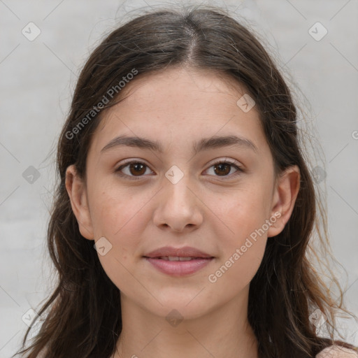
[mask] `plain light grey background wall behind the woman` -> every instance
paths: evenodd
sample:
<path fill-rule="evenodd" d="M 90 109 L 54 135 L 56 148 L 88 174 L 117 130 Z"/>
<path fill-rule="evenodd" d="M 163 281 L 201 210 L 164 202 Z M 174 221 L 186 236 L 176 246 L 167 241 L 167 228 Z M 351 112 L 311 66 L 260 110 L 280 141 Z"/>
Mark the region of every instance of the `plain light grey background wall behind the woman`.
<path fill-rule="evenodd" d="M 50 292 L 45 235 L 55 178 L 52 150 L 78 73 L 129 11 L 173 3 L 0 0 L 0 357 L 13 355 L 27 328 L 22 317 Z M 357 315 L 358 1 L 205 3 L 245 17 L 310 103 L 306 121 L 317 127 L 324 152 L 316 187 L 327 190 L 331 245 L 348 272 L 348 278 L 339 277 L 347 306 Z M 32 39 L 36 31 L 41 34 Z M 32 184 L 23 176 L 29 166 L 40 174 Z M 357 324 L 341 326 L 358 344 Z"/>

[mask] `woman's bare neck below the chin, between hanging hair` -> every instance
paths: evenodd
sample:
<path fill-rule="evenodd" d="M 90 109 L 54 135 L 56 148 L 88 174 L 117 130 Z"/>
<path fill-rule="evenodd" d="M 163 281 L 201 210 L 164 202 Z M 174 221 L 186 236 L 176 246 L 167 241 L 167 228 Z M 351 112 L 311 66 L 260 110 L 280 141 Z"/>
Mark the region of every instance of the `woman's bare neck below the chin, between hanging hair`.
<path fill-rule="evenodd" d="M 236 299 L 171 325 L 121 294 L 123 328 L 113 358 L 257 358 L 257 339 L 248 323 L 245 301 Z"/>

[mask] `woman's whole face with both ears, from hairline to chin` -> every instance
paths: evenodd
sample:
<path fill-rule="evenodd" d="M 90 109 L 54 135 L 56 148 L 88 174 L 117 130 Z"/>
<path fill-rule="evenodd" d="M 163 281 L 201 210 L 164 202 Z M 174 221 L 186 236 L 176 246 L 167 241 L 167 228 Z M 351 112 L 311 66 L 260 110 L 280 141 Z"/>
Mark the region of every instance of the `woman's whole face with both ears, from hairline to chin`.
<path fill-rule="evenodd" d="M 275 181 L 257 110 L 230 79 L 170 69 L 126 91 L 92 137 L 86 180 L 67 172 L 81 234 L 101 238 L 108 277 L 148 312 L 189 318 L 243 302 L 292 212 L 296 169 Z"/>

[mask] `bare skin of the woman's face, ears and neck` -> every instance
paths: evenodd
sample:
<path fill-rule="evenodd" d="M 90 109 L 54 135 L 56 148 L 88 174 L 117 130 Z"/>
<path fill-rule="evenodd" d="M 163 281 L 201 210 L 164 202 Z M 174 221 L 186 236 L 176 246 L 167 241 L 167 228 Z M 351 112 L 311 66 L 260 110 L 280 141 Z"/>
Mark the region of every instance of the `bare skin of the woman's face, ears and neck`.
<path fill-rule="evenodd" d="M 275 240 L 292 214 L 299 169 L 275 176 L 255 106 L 245 113 L 236 104 L 245 91 L 228 81 L 182 68 L 133 80 L 126 99 L 96 129 L 87 178 L 67 169 L 80 233 L 112 245 L 99 260 L 121 292 L 123 329 L 113 358 L 258 357 L 248 323 L 249 285 L 266 241 Z M 123 135 L 157 141 L 163 152 L 126 145 L 101 152 Z M 194 143 L 213 136 L 240 136 L 255 149 L 241 143 L 194 153 Z M 127 165 L 120 176 L 115 170 L 127 159 L 145 164 L 143 170 Z M 225 159 L 242 171 L 214 165 Z M 165 176 L 173 165 L 182 173 L 176 183 Z M 264 234 L 243 252 L 260 228 Z M 163 246 L 191 246 L 214 259 L 173 277 L 143 257 Z M 230 258 L 227 271 L 215 274 Z"/>

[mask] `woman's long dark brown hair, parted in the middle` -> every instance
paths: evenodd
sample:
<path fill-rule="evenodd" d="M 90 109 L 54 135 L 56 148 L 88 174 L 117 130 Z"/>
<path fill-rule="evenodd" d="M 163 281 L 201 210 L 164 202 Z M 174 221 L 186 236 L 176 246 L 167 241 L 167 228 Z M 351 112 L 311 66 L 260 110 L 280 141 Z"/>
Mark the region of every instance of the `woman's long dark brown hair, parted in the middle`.
<path fill-rule="evenodd" d="M 299 144 L 297 109 L 257 36 L 213 6 L 148 11 L 112 31 L 87 60 L 57 147 L 59 182 L 48 225 L 57 284 L 38 312 L 45 317 L 41 329 L 24 349 L 31 328 L 27 330 L 20 353 L 27 358 L 41 352 L 47 358 L 104 358 L 115 352 L 122 330 L 120 290 L 103 271 L 93 241 L 80 234 L 65 174 L 76 164 L 78 174 L 85 177 L 92 134 L 103 113 L 121 100 L 120 81 L 135 81 L 169 66 L 208 69 L 236 80 L 256 102 L 275 173 L 299 166 L 301 185 L 292 215 L 283 231 L 268 240 L 262 264 L 250 282 L 248 320 L 259 343 L 259 357 L 315 357 L 336 341 L 332 330 L 330 338 L 317 335 L 310 314 L 319 310 L 327 317 L 327 327 L 335 329 L 335 312 L 343 307 L 308 259 L 314 229 L 323 246 L 329 243 L 327 231 L 320 229 L 326 223 L 319 217 L 325 216 Z M 98 103 L 105 103 L 100 110 Z"/>

